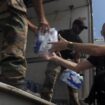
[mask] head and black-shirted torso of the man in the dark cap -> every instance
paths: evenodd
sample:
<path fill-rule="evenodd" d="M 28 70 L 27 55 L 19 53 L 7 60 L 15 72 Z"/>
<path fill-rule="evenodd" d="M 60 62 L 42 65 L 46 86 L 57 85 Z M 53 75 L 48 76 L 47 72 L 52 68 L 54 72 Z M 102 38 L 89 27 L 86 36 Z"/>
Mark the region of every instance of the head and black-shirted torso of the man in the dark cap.
<path fill-rule="evenodd" d="M 63 38 L 65 38 L 68 41 L 82 43 L 83 41 L 79 35 L 84 29 L 87 29 L 87 26 L 84 25 L 82 18 L 78 18 L 73 21 L 71 29 L 59 31 L 59 33 Z M 67 49 L 67 50 L 61 51 L 60 53 L 62 57 L 65 59 L 76 59 L 76 57 L 77 59 L 79 58 L 78 52 L 75 52 L 73 50 Z"/>

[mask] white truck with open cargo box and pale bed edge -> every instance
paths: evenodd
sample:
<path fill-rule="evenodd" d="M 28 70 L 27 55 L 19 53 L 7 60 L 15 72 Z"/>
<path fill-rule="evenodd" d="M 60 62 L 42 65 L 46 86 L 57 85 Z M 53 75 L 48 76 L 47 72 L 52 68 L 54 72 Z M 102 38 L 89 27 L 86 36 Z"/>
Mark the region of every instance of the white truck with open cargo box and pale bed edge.
<path fill-rule="evenodd" d="M 38 24 L 36 14 L 30 1 L 31 0 L 26 0 L 28 16 L 33 23 Z M 88 29 L 83 31 L 80 37 L 84 43 L 93 42 L 92 0 L 44 0 L 43 3 L 51 27 L 56 28 L 58 31 L 70 29 L 72 22 L 76 18 L 82 17 Z M 28 63 L 26 80 L 33 81 L 36 86 L 39 86 L 40 91 L 45 79 L 45 70 L 48 62 L 34 53 L 34 43 L 35 33 L 29 31 L 26 51 Z M 80 100 L 88 95 L 93 80 L 93 74 L 92 71 L 83 72 L 84 83 L 79 90 Z M 70 101 L 67 86 L 62 83 L 59 78 L 54 88 L 54 103 L 4 83 L 0 83 L 0 99 L 0 105 L 69 105 Z"/>

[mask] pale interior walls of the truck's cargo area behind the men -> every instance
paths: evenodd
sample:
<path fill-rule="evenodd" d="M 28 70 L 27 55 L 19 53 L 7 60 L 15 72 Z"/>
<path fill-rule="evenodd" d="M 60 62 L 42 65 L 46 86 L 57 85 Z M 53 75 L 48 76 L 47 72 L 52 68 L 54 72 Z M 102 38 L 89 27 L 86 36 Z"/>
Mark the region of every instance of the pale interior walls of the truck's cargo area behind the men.
<path fill-rule="evenodd" d="M 88 26 L 88 30 L 84 30 L 80 34 L 80 37 L 84 43 L 93 42 L 91 0 L 45 0 L 44 5 L 46 16 L 51 27 L 56 28 L 58 31 L 70 29 L 73 20 L 78 17 L 83 17 L 85 24 Z M 28 14 L 29 18 L 36 23 L 36 14 L 34 13 L 33 8 L 29 8 Z M 27 44 L 27 59 L 29 62 L 27 80 L 32 80 L 41 87 L 45 79 L 45 70 L 48 62 L 43 61 L 34 53 L 33 45 L 34 34 L 29 31 Z M 88 95 L 93 80 L 93 71 L 87 70 L 83 72 L 83 75 L 84 84 L 79 90 L 80 99 L 83 99 Z M 63 90 L 65 91 L 63 92 Z M 55 86 L 53 100 L 68 105 L 67 86 L 62 83 L 59 78 Z"/>

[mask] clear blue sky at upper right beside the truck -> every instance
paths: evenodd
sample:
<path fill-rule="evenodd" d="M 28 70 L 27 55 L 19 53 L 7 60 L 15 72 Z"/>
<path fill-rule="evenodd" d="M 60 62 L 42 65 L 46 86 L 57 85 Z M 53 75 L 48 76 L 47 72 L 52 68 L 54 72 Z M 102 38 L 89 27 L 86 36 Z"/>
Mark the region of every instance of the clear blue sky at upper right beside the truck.
<path fill-rule="evenodd" d="M 93 1 L 93 22 L 94 22 L 94 38 L 102 38 L 100 30 L 102 24 L 105 23 L 105 0 Z"/>

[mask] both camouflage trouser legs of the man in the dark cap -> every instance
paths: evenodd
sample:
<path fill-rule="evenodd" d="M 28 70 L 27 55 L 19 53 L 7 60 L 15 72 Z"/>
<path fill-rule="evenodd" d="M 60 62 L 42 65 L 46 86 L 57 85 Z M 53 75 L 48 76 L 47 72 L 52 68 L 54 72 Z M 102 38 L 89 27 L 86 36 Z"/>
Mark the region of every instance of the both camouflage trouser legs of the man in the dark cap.
<path fill-rule="evenodd" d="M 48 63 L 47 69 L 46 69 L 46 77 L 41 91 L 42 98 L 48 101 L 52 101 L 52 97 L 54 93 L 53 90 L 54 90 L 57 77 L 63 72 L 63 70 L 65 70 L 65 68 L 59 66 L 55 62 L 50 61 Z M 69 92 L 70 105 L 79 105 L 78 91 L 71 88 L 70 86 L 67 86 L 67 87 Z"/>

